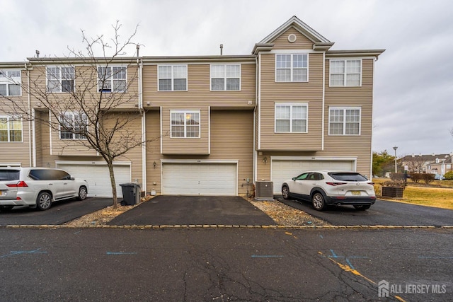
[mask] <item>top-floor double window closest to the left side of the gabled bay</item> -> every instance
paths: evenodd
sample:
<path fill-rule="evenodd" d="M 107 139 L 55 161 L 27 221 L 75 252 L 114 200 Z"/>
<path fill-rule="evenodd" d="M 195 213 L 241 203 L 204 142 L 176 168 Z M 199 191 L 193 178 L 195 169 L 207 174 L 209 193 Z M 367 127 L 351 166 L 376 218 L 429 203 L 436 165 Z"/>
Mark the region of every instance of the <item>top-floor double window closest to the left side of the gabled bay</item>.
<path fill-rule="evenodd" d="M 239 91 L 241 90 L 241 65 L 212 64 L 211 65 L 212 91 Z"/>

